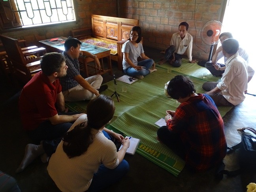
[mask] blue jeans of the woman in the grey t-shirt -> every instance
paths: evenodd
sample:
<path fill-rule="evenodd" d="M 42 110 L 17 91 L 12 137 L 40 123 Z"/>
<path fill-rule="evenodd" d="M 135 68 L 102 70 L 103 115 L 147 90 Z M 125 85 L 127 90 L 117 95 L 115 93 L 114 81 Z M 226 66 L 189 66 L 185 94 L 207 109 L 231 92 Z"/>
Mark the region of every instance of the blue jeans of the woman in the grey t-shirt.
<path fill-rule="evenodd" d="M 124 73 L 126 75 L 130 75 L 130 76 L 137 76 L 137 75 L 145 76 L 150 73 L 149 68 L 151 68 L 153 63 L 154 63 L 154 60 L 152 60 L 152 59 L 145 59 L 143 61 L 139 61 L 138 66 L 146 67 L 145 70 L 136 70 L 133 67 L 129 67 L 126 70 L 124 70 Z"/>

